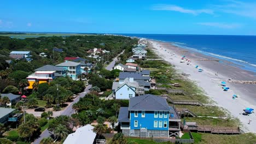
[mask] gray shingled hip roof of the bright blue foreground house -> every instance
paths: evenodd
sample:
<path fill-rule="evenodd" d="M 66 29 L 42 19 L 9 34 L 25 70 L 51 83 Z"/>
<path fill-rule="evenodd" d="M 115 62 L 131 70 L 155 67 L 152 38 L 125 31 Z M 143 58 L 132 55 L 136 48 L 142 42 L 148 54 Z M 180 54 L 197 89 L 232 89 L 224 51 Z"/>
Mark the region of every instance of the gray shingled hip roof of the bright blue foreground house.
<path fill-rule="evenodd" d="M 130 98 L 129 111 L 170 111 L 166 99 L 152 94 Z"/>

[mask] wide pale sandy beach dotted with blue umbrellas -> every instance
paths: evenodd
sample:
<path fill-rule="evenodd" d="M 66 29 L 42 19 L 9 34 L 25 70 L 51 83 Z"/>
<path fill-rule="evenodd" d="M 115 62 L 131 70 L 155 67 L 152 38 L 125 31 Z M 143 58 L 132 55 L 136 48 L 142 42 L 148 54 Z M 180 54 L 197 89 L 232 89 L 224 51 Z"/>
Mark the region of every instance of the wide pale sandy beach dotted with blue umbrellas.
<path fill-rule="evenodd" d="M 222 60 L 221 62 L 217 62 L 215 61 L 219 60 L 217 58 L 182 49 L 170 43 L 153 40 L 149 40 L 149 42 L 152 43 L 153 50 L 158 56 L 170 64 L 175 65 L 175 69 L 178 72 L 189 74 L 188 78 L 195 81 L 205 91 L 206 95 L 216 102 L 215 105 L 223 107 L 230 112 L 231 116 L 240 119 L 243 124 L 241 127 L 243 131 L 256 133 L 255 113 L 249 116 L 242 115 L 246 107 L 255 109 L 256 85 L 228 82 L 228 79 L 256 81 L 255 73 L 235 67 L 228 61 Z M 191 65 L 187 65 L 187 61 L 181 63 L 182 56 L 190 59 Z M 198 61 L 199 59 L 211 59 L 214 61 Z M 195 65 L 199 65 L 199 68 L 203 69 L 203 72 L 198 72 Z M 222 81 L 226 81 L 226 86 L 230 88 L 227 92 L 223 91 L 220 85 Z M 233 100 L 233 94 L 237 94 L 238 98 Z M 251 120 L 250 124 L 248 124 L 249 120 Z"/>

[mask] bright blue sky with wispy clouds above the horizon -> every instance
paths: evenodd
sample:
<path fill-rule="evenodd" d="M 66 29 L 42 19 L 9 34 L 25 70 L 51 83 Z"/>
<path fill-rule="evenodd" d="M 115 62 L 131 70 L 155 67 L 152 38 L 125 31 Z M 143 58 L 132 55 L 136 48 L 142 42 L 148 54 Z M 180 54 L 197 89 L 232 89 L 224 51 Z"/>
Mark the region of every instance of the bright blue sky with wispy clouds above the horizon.
<path fill-rule="evenodd" d="M 2 1 L 0 31 L 256 35 L 256 2 Z"/>

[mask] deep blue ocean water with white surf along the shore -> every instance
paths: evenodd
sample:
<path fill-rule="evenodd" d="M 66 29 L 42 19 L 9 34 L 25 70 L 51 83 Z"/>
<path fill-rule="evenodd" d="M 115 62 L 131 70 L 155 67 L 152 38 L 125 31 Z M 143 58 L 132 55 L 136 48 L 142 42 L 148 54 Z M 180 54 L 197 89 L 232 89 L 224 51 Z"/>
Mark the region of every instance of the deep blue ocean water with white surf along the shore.
<path fill-rule="evenodd" d="M 184 49 L 225 59 L 238 67 L 256 72 L 256 36 L 251 35 L 187 35 L 187 34 L 121 34 L 172 42 Z"/>

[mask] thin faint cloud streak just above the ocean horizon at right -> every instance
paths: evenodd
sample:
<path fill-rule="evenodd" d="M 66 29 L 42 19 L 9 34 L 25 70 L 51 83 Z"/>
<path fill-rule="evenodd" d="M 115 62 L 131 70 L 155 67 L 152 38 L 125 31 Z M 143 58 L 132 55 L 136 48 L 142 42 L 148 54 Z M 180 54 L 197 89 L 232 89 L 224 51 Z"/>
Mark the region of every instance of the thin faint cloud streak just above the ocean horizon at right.
<path fill-rule="evenodd" d="M 238 24 L 238 23 L 199 22 L 199 23 L 196 23 L 196 24 L 197 25 L 202 25 L 202 26 L 226 28 L 226 29 L 241 27 L 241 25 Z"/>

